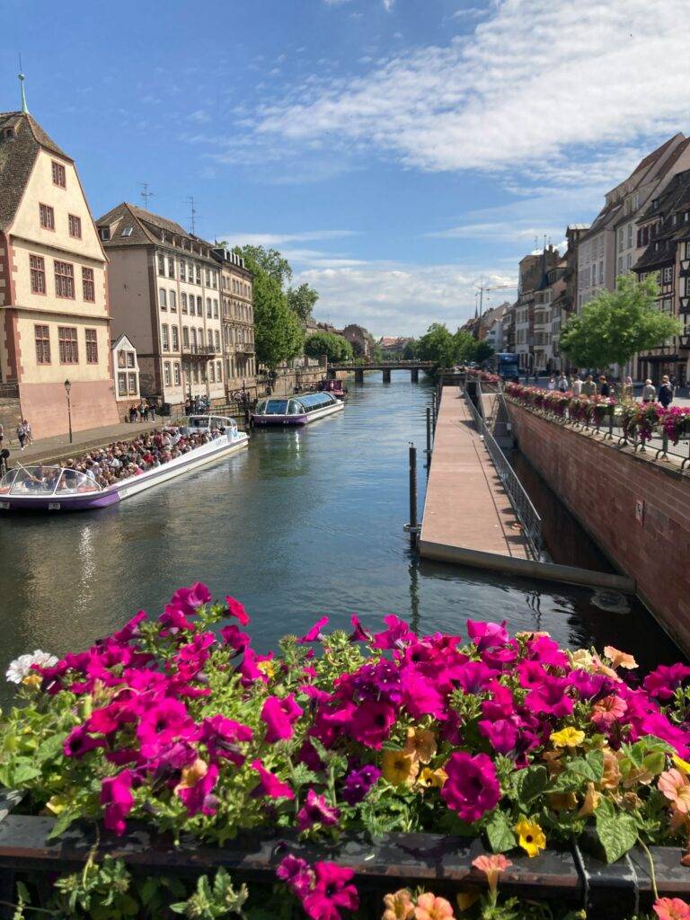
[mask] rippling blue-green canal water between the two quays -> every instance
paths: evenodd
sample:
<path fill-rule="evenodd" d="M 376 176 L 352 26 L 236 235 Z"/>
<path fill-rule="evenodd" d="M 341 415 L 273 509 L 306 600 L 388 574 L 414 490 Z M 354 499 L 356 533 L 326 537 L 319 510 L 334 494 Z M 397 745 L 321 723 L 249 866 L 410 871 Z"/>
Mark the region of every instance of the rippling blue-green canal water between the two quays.
<path fill-rule="evenodd" d="M 141 608 L 157 615 L 192 581 L 246 604 L 262 649 L 323 614 L 333 627 L 352 613 L 374 627 L 395 613 L 427 632 L 506 619 L 571 647 L 610 642 L 649 667 L 678 657 L 639 604 L 604 613 L 588 589 L 419 564 L 403 532 L 408 443 L 420 448 L 421 512 L 431 386 L 369 374 L 350 394 L 335 417 L 255 431 L 242 454 L 121 506 L 0 520 L 2 671 L 36 648 L 80 650 Z"/>

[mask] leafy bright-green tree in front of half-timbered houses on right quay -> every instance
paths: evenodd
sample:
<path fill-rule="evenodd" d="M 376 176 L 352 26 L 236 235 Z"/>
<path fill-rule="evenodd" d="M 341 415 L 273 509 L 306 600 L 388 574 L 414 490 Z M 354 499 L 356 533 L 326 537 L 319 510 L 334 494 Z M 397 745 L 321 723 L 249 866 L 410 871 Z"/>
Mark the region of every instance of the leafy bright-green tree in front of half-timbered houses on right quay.
<path fill-rule="evenodd" d="M 605 370 L 624 367 L 638 351 L 659 348 L 678 335 L 681 326 L 657 305 L 659 284 L 650 277 L 636 281 L 621 275 L 615 291 L 604 291 L 572 316 L 560 334 L 559 346 L 578 367 Z"/>

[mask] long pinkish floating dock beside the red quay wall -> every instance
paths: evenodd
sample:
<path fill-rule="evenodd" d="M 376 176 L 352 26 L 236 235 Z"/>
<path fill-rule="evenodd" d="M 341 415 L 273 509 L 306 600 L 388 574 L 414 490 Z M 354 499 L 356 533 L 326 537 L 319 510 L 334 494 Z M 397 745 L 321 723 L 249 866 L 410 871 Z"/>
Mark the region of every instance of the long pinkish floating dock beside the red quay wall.
<path fill-rule="evenodd" d="M 485 403 L 485 410 L 489 405 Z M 489 413 L 487 413 L 489 414 Z M 631 579 L 533 558 L 457 386 L 444 386 L 434 433 L 420 556 L 476 569 L 633 592 Z"/>

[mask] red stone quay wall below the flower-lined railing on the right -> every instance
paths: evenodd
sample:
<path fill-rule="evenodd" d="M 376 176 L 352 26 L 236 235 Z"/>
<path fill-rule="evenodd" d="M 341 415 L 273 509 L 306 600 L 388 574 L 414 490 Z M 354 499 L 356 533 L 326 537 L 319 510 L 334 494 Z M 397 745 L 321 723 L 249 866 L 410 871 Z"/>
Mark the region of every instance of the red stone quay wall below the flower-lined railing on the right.
<path fill-rule="evenodd" d="M 690 654 L 690 476 L 508 402 L 521 453 Z"/>

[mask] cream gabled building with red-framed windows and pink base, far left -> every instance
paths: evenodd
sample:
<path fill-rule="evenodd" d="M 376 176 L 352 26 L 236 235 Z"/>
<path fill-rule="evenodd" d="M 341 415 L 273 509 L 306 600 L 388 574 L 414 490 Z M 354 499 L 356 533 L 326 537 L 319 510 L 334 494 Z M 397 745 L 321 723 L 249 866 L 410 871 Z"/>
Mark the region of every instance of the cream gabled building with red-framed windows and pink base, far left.
<path fill-rule="evenodd" d="M 107 259 L 75 161 L 26 105 L 0 113 L 0 379 L 34 437 L 118 421 Z"/>

